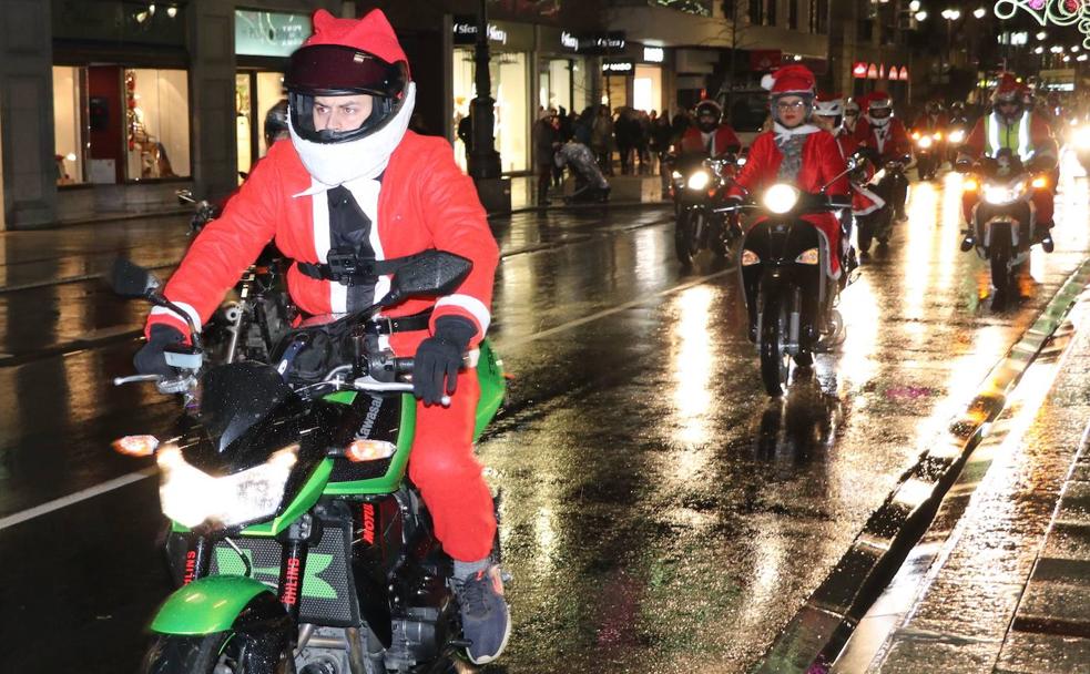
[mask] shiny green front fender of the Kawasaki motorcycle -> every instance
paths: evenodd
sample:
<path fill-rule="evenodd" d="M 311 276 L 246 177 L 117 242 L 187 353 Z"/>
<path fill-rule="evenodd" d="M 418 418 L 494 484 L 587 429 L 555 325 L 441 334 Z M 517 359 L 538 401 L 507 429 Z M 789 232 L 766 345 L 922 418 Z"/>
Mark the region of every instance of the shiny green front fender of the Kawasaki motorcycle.
<path fill-rule="evenodd" d="M 195 636 L 226 630 L 278 630 L 287 612 L 265 584 L 242 575 L 210 575 L 182 586 L 151 623 L 159 634 Z"/>

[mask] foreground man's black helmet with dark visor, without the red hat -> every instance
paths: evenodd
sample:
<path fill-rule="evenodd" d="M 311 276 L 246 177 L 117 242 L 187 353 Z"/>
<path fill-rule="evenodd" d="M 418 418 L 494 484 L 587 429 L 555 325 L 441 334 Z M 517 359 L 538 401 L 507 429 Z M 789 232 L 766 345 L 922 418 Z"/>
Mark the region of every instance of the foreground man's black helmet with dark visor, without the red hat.
<path fill-rule="evenodd" d="M 409 82 L 405 61 L 390 63 L 367 51 L 344 44 L 310 44 L 292 54 L 284 86 L 288 92 L 292 126 L 312 143 L 355 141 L 393 120 Z M 347 131 L 314 127 L 315 96 L 371 96 L 371 113 L 364 123 Z"/>

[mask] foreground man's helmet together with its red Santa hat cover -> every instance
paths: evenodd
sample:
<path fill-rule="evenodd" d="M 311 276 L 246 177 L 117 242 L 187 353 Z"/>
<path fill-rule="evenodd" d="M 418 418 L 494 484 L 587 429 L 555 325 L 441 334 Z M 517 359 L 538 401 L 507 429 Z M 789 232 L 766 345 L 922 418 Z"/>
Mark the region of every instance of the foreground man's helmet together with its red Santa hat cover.
<path fill-rule="evenodd" d="M 398 116 L 410 88 L 409 64 L 380 10 L 363 19 L 314 13 L 314 34 L 292 54 L 284 86 L 294 131 L 313 143 L 343 143 L 378 132 Z M 314 98 L 367 94 L 371 113 L 358 129 L 316 131 Z"/>

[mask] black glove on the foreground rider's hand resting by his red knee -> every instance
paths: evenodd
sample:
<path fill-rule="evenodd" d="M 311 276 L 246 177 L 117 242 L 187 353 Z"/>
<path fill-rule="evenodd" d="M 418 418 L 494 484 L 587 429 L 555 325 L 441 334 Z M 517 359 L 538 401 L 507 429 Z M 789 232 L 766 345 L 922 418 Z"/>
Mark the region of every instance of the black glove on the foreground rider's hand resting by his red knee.
<path fill-rule="evenodd" d="M 461 316 L 436 319 L 435 335 L 420 343 L 412 362 L 412 395 L 437 405 L 458 387 L 458 370 L 477 326 Z"/>

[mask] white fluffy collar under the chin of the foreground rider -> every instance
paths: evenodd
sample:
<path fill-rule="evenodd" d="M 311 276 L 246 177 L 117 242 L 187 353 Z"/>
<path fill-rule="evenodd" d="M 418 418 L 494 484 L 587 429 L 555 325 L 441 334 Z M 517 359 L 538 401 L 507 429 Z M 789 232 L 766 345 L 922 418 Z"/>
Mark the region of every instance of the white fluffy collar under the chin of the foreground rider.
<path fill-rule="evenodd" d="M 397 147 L 416 104 L 416 83 L 409 82 L 400 110 L 385 126 L 361 139 L 347 143 L 312 143 L 300 137 L 288 119 L 292 144 L 309 172 L 312 186 L 303 196 L 317 194 L 357 178 L 376 178 L 386 171 L 390 154 Z"/>

